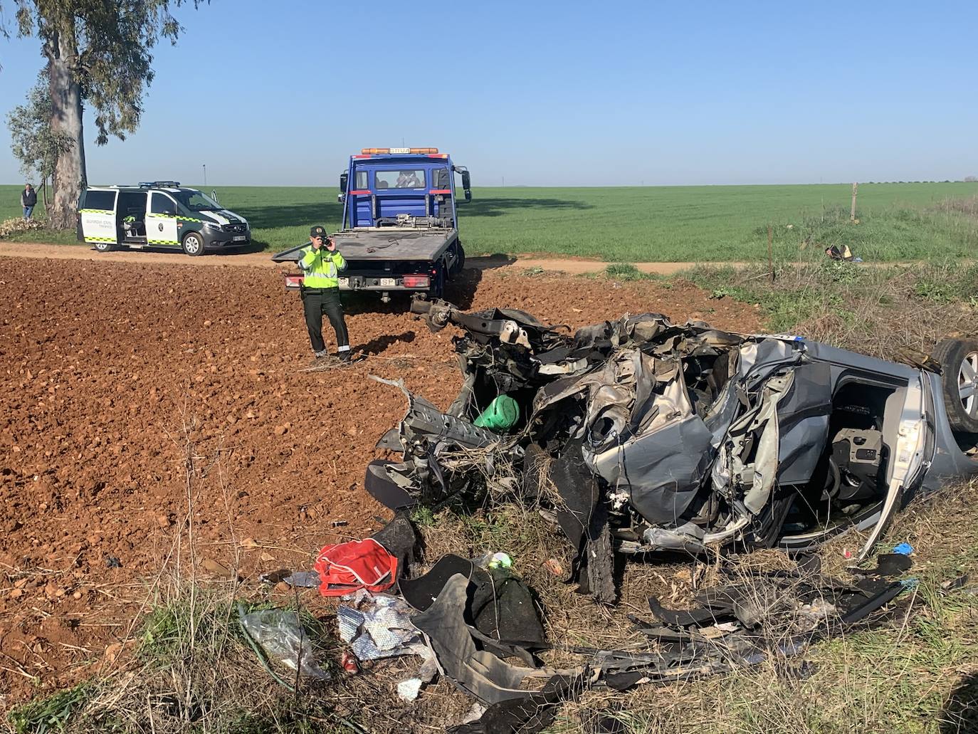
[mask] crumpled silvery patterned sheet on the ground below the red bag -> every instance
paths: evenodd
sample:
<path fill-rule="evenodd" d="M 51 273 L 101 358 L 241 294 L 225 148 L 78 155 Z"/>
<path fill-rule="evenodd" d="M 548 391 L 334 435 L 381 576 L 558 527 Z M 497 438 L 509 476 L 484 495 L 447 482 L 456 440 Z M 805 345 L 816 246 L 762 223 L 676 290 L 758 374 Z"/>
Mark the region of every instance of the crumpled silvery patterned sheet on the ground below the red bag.
<path fill-rule="evenodd" d="M 339 637 L 358 660 L 417 655 L 427 649 L 411 623 L 411 607 L 403 599 L 363 589 L 344 598 L 350 603 L 336 609 Z"/>

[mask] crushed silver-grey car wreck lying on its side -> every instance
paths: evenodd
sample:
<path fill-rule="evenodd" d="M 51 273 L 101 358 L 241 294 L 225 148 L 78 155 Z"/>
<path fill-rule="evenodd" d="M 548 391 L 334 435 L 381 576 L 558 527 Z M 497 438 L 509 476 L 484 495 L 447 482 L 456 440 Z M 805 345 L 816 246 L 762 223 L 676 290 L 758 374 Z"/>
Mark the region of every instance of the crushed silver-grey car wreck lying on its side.
<path fill-rule="evenodd" d="M 978 474 L 975 341 L 914 367 L 661 314 L 570 335 L 512 309 L 412 310 L 465 333 L 463 389 L 444 413 L 405 390 L 378 443 L 403 461 L 373 462 L 367 489 L 395 509 L 538 502 L 599 596 L 612 547 L 798 551 L 859 528 L 865 555 L 914 496 Z"/>

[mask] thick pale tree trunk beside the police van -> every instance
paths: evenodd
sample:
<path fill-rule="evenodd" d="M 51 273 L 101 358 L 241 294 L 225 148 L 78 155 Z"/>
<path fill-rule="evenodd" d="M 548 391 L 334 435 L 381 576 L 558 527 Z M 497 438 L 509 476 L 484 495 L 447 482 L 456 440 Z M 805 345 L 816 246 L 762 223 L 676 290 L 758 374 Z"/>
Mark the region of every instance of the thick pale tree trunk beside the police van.
<path fill-rule="evenodd" d="M 52 176 L 54 201 L 48 214 L 54 229 L 74 229 L 78 200 L 87 184 L 85 141 L 81 128 L 81 88 L 72 67 L 77 63 L 77 42 L 71 32 L 59 32 L 45 44 L 51 90 L 51 129 L 63 132 L 71 147 L 58 157 Z"/>

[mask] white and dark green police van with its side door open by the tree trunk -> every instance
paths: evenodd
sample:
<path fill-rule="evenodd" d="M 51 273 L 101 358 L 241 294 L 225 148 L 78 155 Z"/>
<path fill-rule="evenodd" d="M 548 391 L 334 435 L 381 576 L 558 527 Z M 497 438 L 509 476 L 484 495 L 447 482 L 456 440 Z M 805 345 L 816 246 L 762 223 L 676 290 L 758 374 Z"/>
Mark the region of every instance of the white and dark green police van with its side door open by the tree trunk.
<path fill-rule="evenodd" d="M 251 242 L 243 216 L 179 181 L 87 188 L 78 206 L 77 234 L 99 252 L 174 246 L 198 255 Z"/>

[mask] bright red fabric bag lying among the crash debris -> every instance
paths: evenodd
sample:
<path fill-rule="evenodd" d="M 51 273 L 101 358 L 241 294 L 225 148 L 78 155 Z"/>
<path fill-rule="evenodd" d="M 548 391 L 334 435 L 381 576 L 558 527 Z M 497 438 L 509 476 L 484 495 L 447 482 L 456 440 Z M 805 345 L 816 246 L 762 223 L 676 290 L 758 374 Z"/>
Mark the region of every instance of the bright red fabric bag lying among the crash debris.
<path fill-rule="evenodd" d="M 383 591 L 397 580 L 397 559 L 370 537 L 326 546 L 314 568 L 323 596 L 342 596 L 357 589 Z"/>

